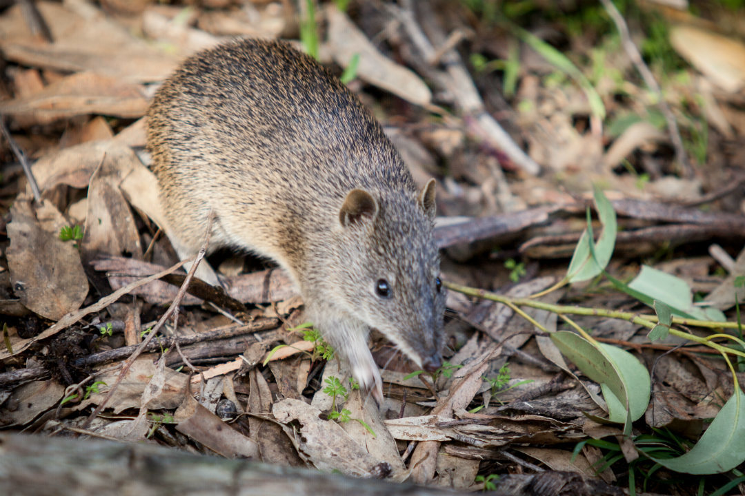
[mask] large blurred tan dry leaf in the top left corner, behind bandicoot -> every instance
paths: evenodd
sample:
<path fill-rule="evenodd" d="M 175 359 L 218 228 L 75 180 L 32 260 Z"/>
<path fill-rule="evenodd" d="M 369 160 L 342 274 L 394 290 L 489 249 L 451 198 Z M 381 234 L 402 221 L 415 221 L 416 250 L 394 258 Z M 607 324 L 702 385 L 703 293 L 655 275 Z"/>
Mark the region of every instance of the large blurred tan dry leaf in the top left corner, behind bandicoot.
<path fill-rule="evenodd" d="M 40 41 L 27 28 L 21 5 L 0 16 L 0 48 L 4 57 L 31 67 L 63 72 L 95 71 L 122 83 L 164 80 L 178 58 L 157 51 L 134 37 L 100 10 L 78 2 L 37 1 L 54 43 Z"/>

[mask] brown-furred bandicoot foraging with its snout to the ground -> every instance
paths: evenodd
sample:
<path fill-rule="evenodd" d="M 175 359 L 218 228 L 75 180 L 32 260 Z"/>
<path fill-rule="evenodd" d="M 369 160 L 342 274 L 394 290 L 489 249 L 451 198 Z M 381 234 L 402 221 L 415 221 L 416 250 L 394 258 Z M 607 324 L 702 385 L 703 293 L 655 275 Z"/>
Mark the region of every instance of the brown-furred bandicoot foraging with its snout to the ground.
<path fill-rule="evenodd" d="M 378 401 L 370 327 L 419 366 L 440 365 L 434 181 L 416 190 L 381 126 L 314 59 L 260 40 L 191 57 L 155 95 L 148 149 L 180 257 L 197 253 L 212 212 L 210 248 L 285 268 L 310 320 Z"/>

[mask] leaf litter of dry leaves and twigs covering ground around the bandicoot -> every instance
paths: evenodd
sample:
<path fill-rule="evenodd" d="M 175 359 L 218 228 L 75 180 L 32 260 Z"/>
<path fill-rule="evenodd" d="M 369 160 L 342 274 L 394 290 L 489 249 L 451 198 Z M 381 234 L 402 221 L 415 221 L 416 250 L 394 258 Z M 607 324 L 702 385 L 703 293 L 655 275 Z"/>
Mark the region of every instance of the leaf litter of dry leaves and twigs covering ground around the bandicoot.
<path fill-rule="evenodd" d="M 741 361 L 729 370 L 706 348 L 714 332 L 680 320 L 737 322 L 745 303 L 745 171 L 738 165 L 745 78 L 731 63 L 743 50 L 737 36 L 691 13 L 688 24 L 665 19 L 665 57 L 679 58 L 675 77 L 661 80 L 693 163 L 688 174 L 676 164 L 650 88 L 622 49 L 589 51 L 588 40 L 599 36 L 589 29 L 565 34 L 562 54 L 523 31 L 535 28 L 537 12 L 490 24 L 466 3 L 352 2 L 345 13 L 324 2 L 320 57 L 338 74 L 359 57 L 349 86 L 373 107 L 416 181 L 439 181 L 443 279 L 513 300 L 563 279 L 571 286 L 536 301 L 641 317 L 601 326 L 597 315 L 567 319 L 520 306 L 534 326 L 512 306 L 451 291 L 448 308 L 458 315 L 448 314 L 448 364 L 435 380 L 410 376 L 410 364 L 374 336 L 386 384 L 378 410 L 344 381 L 343 364 L 323 361 L 314 355 L 319 342 L 291 330 L 303 321 L 288 277 L 248 260 L 238 263 L 240 274 L 226 276 L 226 296 L 241 305 L 198 292 L 195 283 L 180 301 L 177 325 L 169 323 L 132 364 L 87 432 L 166 443 L 166 431 L 178 431 L 182 447 L 224 457 L 468 492 L 488 487 L 489 474 L 519 480 L 517 472 L 536 469 L 627 487 L 624 472 L 643 471 L 647 456 L 673 474 L 726 472 L 745 461 Z M 31 199 L 4 144 L 2 291 L 26 315 L 4 316 L 0 419 L 9 431 L 37 425 L 51 433 L 82 425 L 76 416 L 101 405 L 118 381 L 124 340 L 101 323 L 129 322 L 141 341 L 177 297 L 177 286 L 161 280 L 177 270 L 176 258 L 160 231 L 167 226 L 142 149 L 140 117 L 152 83 L 226 35 L 292 37 L 291 19 L 302 11 L 265 2 L 187 11 L 142 1 L 126 13 L 115 2 L 108 11 L 80 1 L 37 4 L 52 42 L 30 33 L 19 5 L 0 14 L 10 81 L 0 88 L 0 112 L 33 161 L 43 195 L 41 203 Z M 568 33 L 554 13 L 544 13 L 546 22 Z M 515 22 L 524 25 L 516 30 Z M 134 25 L 142 34 L 133 34 Z M 519 50 L 502 51 L 499 36 Z M 486 60 L 482 68 L 468 57 L 476 53 Z M 645 57 L 657 77 L 655 63 L 672 63 Z M 489 59 L 497 69 L 486 70 Z M 518 76 L 505 100 L 499 90 L 508 60 L 517 62 Z M 593 185 L 605 194 L 592 193 Z M 599 216 L 585 229 L 593 200 Z M 63 228 L 80 236 L 60 239 Z M 672 274 L 671 260 L 696 275 Z M 657 330 L 647 338 L 650 315 Z M 285 321 L 279 329 L 278 317 Z M 41 323 L 36 335 L 26 330 L 32 322 Z M 264 364 L 279 344 L 288 346 Z M 344 393 L 326 392 L 333 379 Z M 652 429 L 685 437 L 693 448 L 648 451 L 642 438 L 659 432 Z M 600 444 L 612 439 L 620 441 Z M 635 468 L 607 463 L 612 452 Z M 615 491 L 598 487 L 595 494 Z M 689 494 L 685 484 L 676 490 Z"/>

